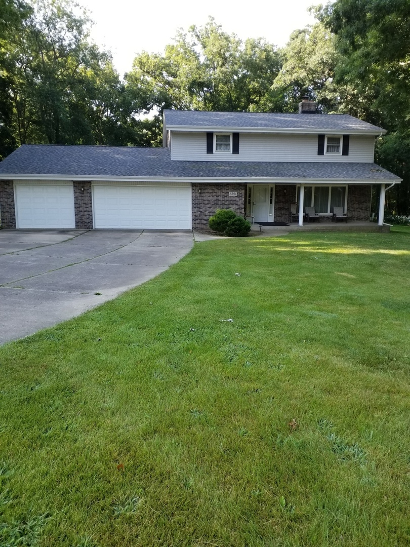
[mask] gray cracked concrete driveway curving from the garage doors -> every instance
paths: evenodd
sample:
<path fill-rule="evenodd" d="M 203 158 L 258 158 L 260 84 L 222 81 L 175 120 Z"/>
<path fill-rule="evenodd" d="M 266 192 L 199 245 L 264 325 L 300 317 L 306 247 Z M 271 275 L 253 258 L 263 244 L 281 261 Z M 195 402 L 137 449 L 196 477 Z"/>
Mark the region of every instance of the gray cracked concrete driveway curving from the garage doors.
<path fill-rule="evenodd" d="M 148 281 L 193 244 L 190 230 L 0 230 L 0 344 Z"/>

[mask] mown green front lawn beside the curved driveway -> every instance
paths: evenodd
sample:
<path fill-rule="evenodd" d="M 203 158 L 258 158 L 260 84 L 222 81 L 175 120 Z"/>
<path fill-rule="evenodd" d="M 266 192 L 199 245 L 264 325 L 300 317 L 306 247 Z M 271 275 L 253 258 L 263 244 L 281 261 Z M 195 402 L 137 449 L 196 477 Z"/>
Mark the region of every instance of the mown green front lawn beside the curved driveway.
<path fill-rule="evenodd" d="M 197 243 L 1 347 L 0 545 L 407 546 L 409 271 L 400 232 Z"/>

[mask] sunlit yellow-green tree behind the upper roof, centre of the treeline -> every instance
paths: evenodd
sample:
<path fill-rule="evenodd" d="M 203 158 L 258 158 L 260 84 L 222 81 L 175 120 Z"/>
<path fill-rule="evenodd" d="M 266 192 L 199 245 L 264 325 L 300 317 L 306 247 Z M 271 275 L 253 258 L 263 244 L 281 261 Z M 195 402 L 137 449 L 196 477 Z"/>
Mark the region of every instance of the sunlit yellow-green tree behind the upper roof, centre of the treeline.
<path fill-rule="evenodd" d="M 127 88 L 145 110 L 260 110 L 267 108 L 280 55 L 265 40 L 243 42 L 213 18 L 179 31 L 163 55 L 143 52 L 126 74 Z"/>

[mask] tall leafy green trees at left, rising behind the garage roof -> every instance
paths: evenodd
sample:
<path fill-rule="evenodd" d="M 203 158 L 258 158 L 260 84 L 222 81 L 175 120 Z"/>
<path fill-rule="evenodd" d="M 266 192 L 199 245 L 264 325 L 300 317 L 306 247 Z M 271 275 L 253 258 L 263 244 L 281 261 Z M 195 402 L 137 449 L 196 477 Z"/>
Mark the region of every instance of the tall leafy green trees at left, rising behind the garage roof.
<path fill-rule="evenodd" d="M 0 157 L 32 142 L 138 143 L 140 108 L 90 42 L 87 13 L 69 0 L 0 1 Z"/>

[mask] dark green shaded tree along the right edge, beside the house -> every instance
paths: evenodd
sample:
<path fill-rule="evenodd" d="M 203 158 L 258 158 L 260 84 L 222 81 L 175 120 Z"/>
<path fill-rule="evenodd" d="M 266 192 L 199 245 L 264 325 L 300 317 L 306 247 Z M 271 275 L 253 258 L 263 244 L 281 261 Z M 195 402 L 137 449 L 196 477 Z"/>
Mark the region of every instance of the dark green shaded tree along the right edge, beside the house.
<path fill-rule="evenodd" d="M 410 212 L 410 3 L 408 0 L 337 0 L 317 14 L 336 37 L 336 83 L 347 83 L 364 107 L 359 117 L 381 125 L 377 159 L 403 177 L 390 192 L 391 209 Z"/>

